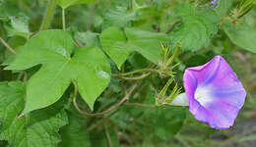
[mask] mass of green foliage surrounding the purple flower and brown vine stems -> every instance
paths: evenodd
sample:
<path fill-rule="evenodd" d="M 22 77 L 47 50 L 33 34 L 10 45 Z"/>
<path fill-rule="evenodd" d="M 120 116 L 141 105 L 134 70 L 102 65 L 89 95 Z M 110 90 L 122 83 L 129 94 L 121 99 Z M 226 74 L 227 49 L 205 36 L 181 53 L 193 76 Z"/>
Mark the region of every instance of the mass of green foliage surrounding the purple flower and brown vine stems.
<path fill-rule="evenodd" d="M 18 53 L 0 43 L 0 146 L 253 146 L 256 9 L 243 15 L 247 7 L 238 0 L 210 2 L 57 0 L 50 8 L 48 0 L 0 0 L 0 37 Z M 147 75 L 130 97 L 129 103 L 148 107 L 123 105 L 103 117 L 77 112 L 72 81 L 83 111 L 107 110 L 124 97 L 122 85 L 128 90 L 137 83 L 110 74 L 162 66 L 160 43 L 171 53 L 181 47 L 171 67 L 179 65 L 170 70 L 179 87 L 187 67 L 224 56 L 248 93 L 233 127 L 216 130 L 187 108 L 155 107 L 169 78 L 164 73 Z"/>

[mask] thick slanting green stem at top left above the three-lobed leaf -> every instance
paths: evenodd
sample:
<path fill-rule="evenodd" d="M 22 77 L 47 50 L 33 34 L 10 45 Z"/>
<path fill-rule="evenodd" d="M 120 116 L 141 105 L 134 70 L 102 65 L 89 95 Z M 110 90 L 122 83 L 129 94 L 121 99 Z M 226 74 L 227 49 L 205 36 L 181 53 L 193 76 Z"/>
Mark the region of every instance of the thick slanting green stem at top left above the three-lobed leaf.
<path fill-rule="evenodd" d="M 48 7 L 46 9 L 42 24 L 40 26 L 40 30 L 45 30 L 51 24 L 52 17 L 54 15 L 54 10 L 57 4 L 57 0 L 50 0 Z"/>

